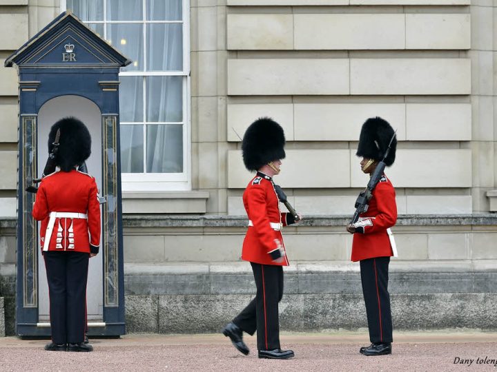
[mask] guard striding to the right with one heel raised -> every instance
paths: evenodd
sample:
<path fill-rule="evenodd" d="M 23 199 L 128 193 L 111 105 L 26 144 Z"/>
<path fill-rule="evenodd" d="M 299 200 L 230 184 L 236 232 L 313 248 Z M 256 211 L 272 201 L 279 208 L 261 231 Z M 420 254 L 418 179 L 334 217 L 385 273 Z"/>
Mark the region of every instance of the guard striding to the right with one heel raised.
<path fill-rule="evenodd" d="M 300 215 L 282 213 L 277 196 L 279 186 L 273 176 L 280 173 L 285 157 L 282 127 L 271 118 L 259 118 L 246 130 L 242 140 L 244 164 L 257 172 L 243 194 L 249 227 L 242 248 L 242 260 L 251 262 L 257 294 L 222 333 L 231 338 L 245 355 L 249 348 L 242 332 L 253 335 L 257 329 L 258 357 L 293 358 L 291 350 L 280 347 L 278 302 L 283 296 L 283 266 L 288 266 L 281 229 L 300 220 Z M 286 200 L 286 198 L 285 198 Z"/>

